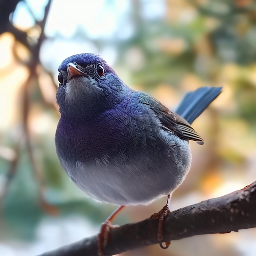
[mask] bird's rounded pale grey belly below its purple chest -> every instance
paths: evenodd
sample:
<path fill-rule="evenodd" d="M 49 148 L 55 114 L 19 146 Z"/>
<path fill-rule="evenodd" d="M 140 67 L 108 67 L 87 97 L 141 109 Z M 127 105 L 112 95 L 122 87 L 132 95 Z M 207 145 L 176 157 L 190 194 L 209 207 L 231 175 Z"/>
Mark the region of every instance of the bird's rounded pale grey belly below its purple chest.
<path fill-rule="evenodd" d="M 142 147 L 90 162 L 60 162 L 71 180 L 96 200 L 117 205 L 148 204 L 174 191 L 190 169 L 187 141 L 163 132 L 159 150 Z M 161 154 L 159 154 L 161 152 Z"/>

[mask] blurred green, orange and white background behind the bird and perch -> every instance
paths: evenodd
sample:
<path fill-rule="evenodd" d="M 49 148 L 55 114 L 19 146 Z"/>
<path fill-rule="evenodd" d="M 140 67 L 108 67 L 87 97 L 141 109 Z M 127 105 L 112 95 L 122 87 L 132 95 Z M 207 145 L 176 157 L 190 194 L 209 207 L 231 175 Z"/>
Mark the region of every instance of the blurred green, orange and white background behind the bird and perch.
<path fill-rule="evenodd" d="M 93 52 L 126 84 L 174 109 L 200 86 L 223 86 L 194 122 L 192 168 L 171 210 L 256 180 L 254 0 L 0 0 L 0 255 L 35 256 L 96 234 L 116 208 L 88 198 L 55 152 L 58 66 Z M 130 206 L 114 224 L 166 203 Z M 196 236 L 126 256 L 251 256 L 256 229 Z"/>

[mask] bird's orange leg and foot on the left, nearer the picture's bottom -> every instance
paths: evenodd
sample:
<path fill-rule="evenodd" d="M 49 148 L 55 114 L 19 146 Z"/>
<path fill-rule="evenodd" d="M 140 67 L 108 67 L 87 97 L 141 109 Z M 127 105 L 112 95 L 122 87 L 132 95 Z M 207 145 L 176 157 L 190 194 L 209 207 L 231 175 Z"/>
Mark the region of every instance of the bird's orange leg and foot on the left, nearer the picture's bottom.
<path fill-rule="evenodd" d="M 101 224 L 100 233 L 98 234 L 98 255 L 104 256 L 104 247 L 108 244 L 109 230 L 113 228 L 111 222 L 114 220 L 118 212 L 124 208 L 124 205 L 119 206 L 114 212 Z"/>

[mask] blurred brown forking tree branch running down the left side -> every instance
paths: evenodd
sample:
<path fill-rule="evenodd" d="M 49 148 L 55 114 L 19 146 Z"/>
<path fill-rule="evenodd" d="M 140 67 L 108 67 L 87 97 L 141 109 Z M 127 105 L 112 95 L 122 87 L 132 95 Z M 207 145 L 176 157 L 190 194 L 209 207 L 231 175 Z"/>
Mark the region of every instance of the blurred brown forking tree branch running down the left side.
<path fill-rule="evenodd" d="M 16 40 L 20 41 L 24 46 L 28 48 L 32 56 L 30 61 L 26 64 L 26 66 L 29 68 L 30 73 L 29 73 L 28 79 L 26 80 L 26 82 L 22 87 L 22 126 L 24 130 L 21 136 L 22 137 L 24 136 L 25 138 L 25 143 L 28 149 L 30 163 L 34 171 L 35 179 L 39 184 L 39 197 L 40 197 L 40 203 L 42 205 L 42 208 L 44 208 L 50 214 L 56 214 L 56 211 L 57 211 L 56 208 L 48 204 L 44 200 L 44 191 L 46 189 L 46 184 L 45 184 L 44 176 L 42 172 L 38 170 L 38 166 L 36 164 L 29 124 L 28 124 L 28 116 L 30 112 L 30 90 L 31 90 L 31 87 L 34 86 L 34 84 L 36 84 L 38 81 L 37 67 L 38 65 L 40 65 L 40 59 L 39 59 L 40 48 L 46 38 L 44 34 L 44 28 L 46 25 L 46 20 L 48 18 L 52 0 L 48 0 L 48 3 L 46 4 L 46 7 L 44 9 L 44 18 L 41 21 L 36 21 L 36 24 L 41 28 L 41 33 L 36 44 L 30 44 L 28 41 L 27 33 L 25 31 L 18 30 L 10 22 L 11 19 L 9 19 L 9 16 L 12 14 L 12 12 L 14 12 L 18 2 L 20 2 L 20 0 L 0 1 L 0 25 L 1 25 L 0 34 L 3 32 L 11 32 L 14 35 Z M 2 13 L 4 14 L 3 16 L 1 16 Z M 0 198 L 0 206 L 8 191 L 10 182 L 14 177 L 14 174 L 16 173 L 18 160 L 20 156 L 20 150 L 21 150 L 20 142 L 18 142 L 16 146 L 17 157 L 10 163 L 10 168 L 7 173 L 7 182 L 4 186 L 4 192 Z"/>

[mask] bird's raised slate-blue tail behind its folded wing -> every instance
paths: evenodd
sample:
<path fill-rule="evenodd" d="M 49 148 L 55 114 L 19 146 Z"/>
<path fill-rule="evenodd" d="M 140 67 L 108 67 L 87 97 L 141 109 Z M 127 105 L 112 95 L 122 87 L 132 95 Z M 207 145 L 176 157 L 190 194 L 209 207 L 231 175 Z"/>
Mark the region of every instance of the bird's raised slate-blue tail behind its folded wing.
<path fill-rule="evenodd" d="M 176 113 L 192 124 L 220 95 L 221 90 L 222 87 L 201 87 L 194 92 L 188 92 L 176 109 Z"/>

